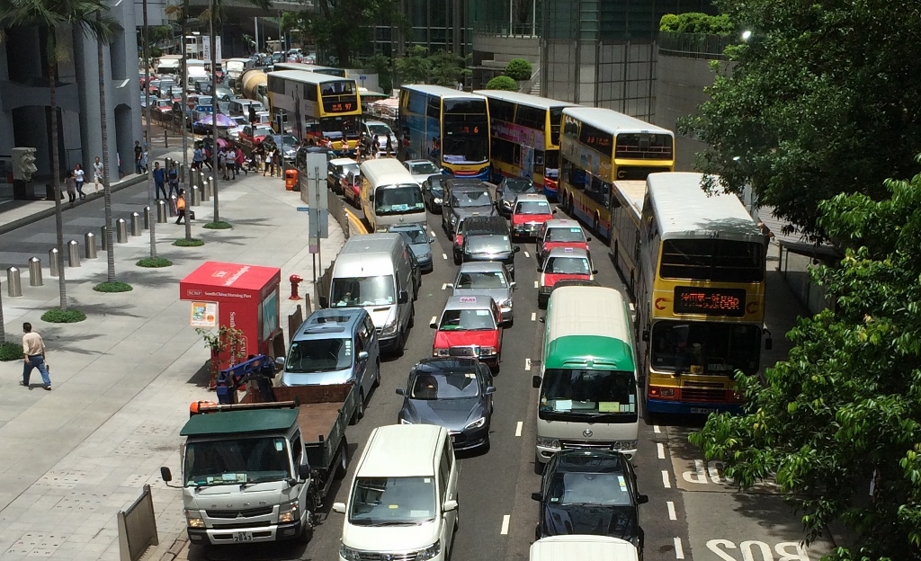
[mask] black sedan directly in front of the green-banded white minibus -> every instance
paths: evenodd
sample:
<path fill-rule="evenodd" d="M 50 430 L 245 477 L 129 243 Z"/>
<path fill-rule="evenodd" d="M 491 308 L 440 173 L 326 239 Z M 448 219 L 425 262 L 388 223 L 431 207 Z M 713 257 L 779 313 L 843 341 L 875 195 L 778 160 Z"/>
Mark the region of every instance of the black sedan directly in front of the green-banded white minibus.
<path fill-rule="evenodd" d="M 565 534 L 606 535 L 643 552 L 639 506 L 649 497 L 636 487 L 633 465 L 614 450 L 568 449 L 554 454 L 543 471 L 537 538 Z"/>

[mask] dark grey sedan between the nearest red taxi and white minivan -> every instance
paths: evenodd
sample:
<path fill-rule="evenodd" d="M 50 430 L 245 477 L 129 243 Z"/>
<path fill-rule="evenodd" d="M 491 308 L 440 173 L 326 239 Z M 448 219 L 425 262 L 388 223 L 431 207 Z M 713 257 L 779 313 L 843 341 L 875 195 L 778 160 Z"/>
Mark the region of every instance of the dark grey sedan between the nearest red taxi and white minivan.
<path fill-rule="evenodd" d="M 401 425 L 439 425 L 448 429 L 454 450 L 489 447 L 493 415 L 493 375 L 475 358 L 423 358 L 409 373 L 397 415 Z"/>

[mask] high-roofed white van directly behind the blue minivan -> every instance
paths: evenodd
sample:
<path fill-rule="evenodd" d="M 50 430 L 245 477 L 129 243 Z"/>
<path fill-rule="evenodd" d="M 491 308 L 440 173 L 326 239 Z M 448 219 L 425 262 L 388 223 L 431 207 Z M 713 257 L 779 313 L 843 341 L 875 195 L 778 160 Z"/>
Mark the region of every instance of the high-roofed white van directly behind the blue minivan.
<path fill-rule="evenodd" d="M 364 308 L 371 314 L 381 352 L 402 353 L 415 318 L 422 283 L 400 234 L 368 234 L 345 242 L 322 308 Z"/>

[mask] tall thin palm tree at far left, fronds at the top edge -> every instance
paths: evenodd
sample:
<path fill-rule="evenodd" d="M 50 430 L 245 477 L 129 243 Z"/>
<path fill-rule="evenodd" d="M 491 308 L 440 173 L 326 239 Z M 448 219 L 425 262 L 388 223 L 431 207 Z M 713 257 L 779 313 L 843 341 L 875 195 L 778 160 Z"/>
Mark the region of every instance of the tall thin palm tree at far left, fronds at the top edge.
<path fill-rule="evenodd" d="M 61 212 L 61 155 L 58 153 L 57 65 L 69 53 L 58 48 L 56 32 L 73 26 L 98 41 L 110 42 L 120 29 L 109 15 L 103 0 L 4 0 L 0 3 L 0 30 L 38 27 L 48 33 L 48 93 L 51 107 L 52 186 L 54 192 L 54 226 L 57 229 L 58 286 L 61 310 L 67 310 L 67 284 L 64 278 L 64 217 Z M 101 92 L 100 92 L 101 93 Z"/>

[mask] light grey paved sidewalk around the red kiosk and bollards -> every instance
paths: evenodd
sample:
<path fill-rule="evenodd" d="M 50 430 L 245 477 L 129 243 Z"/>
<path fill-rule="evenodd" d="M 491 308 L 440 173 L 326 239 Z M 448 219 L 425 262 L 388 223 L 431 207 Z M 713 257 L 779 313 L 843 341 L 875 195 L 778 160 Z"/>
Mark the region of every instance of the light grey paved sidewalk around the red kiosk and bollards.
<path fill-rule="evenodd" d="M 294 208 L 302 205 L 299 193 L 261 175 L 221 182 L 220 189 L 221 218 L 234 228 L 201 228 L 213 200 L 192 207 L 198 218 L 193 236 L 205 240 L 203 247 L 173 247 L 184 227 L 157 224 L 157 252 L 172 260 L 172 267 L 134 265 L 149 255 L 146 230 L 116 245 L 118 279 L 134 291 L 92 290 L 106 280 L 104 251 L 68 268 L 71 306 L 87 312 L 87 321 L 62 325 L 39 319 L 58 305 L 57 279 L 47 267 L 39 287 L 29 286 L 23 271 L 21 298 L 8 298 L 3 286 L 7 339 L 18 342 L 22 321 L 32 322 L 48 346 L 53 391 L 18 386 L 21 361 L 0 363 L 0 558 L 119 559 L 115 515 L 145 484 L 154 489 L 160 541 L 145 558 L 171 558 L 169 548 L 173 554 L 181 548 L 174 545 L 184 537 L 181 491 L 163 485 L 158 470 L 161 465 L 179 470 L 179 429 L 188 419 L 189 403 L 213 399 L 214 393 L 205 388 L 208 351 L 188 325 L 189 304 L 179 301 L 179 280 L 206 260 L 277 266 L 283 279 L 311 278 L 307 216 Z M 146 183 L 126 187 L 113 194 L 115 217 L 139 211 L 146 202 Z M 101 202 L 87 201 L 65 209 L 67 239 L 82 246 L 78 232 L 98 234 L 101 208 Z M 324 266 L 344 243 L 335 221 L 329 229 L 330 239 L 321 245 Z M 8 231 L 0 235 L 0 263 L 21 265 L 31 254 L 47 265 L 53 237 L 53 217 Z M 309 294 L 312 286 L 305 285 L 302 294 Z M 287 314 L 297 305 L 286 298 L 287 288 L 283 283 L 285 329 Z"/>

